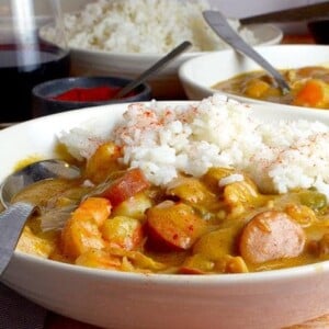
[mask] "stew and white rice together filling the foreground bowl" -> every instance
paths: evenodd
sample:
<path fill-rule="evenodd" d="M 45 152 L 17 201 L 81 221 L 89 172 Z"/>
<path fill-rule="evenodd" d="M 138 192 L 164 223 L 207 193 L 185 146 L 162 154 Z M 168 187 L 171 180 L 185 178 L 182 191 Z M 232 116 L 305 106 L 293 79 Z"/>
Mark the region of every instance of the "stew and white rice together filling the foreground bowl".
<path fill-rule="evenodd" d="M 265 123 L 253 110 L 214 94 L 129 104 L 104 132 L 101 124 L 71 128 L 59 140 L 82 177 L 15 196 L 41 209 L 18 249 L 144 273 L 241 273 L 327 260 L 329 128 Z"/>

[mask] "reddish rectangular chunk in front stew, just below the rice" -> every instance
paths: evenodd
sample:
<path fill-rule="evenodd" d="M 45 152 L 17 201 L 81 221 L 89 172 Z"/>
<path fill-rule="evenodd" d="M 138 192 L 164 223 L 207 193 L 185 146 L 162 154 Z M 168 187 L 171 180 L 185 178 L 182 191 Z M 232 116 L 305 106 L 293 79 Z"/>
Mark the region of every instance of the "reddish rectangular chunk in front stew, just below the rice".
<path fill-rule="evenodd" d="M 116 206 L 123 201 L 128 200 L 131 196 L 148 189 L 149 185 L 150 184 L 143 171 L 138 168 L 134 168 L 112 182 L 101 195 L 109 198 L 113 206 Z"/>

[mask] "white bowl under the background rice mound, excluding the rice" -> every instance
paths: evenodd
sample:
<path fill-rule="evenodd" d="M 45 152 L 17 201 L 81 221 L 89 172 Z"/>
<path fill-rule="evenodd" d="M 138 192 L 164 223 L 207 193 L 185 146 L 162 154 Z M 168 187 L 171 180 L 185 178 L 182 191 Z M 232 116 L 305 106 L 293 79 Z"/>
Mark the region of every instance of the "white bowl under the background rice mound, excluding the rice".
<path fill-rule="evenodd" d="M 283 37 L 280 29 L 270 24 L 250 25 L 258 39 L 258 45 L 279 44 Z M 184 53 L 163 70 L 150 77 L 148 83 L 157 99 L 181 99 L 183 89 L 178 78 L 178 69 L 188 59 L 207 53 Z M 73 76 L 120 76 L 136 78 L 144 70 L 160 59 L 159 54 L 122 54 L 103 50 L 71 48 L 71 65 Z"/>

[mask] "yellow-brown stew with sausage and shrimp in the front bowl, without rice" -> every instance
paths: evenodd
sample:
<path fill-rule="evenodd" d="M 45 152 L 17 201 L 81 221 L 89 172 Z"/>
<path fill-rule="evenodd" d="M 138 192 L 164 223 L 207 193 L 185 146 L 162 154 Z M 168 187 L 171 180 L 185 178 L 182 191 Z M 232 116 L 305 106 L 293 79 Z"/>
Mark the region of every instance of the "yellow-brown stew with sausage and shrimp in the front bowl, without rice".
<path fill-rule="evenodd" d="M 143 273 L 241 273 L 329 259 L 329 208 L 315 190 L 266 195 L 243 172 L 212 168 L 151 185 L 101 145 L 82 177 L 14 198 L 37 202 L 18 249 L 83 266 Z"/>

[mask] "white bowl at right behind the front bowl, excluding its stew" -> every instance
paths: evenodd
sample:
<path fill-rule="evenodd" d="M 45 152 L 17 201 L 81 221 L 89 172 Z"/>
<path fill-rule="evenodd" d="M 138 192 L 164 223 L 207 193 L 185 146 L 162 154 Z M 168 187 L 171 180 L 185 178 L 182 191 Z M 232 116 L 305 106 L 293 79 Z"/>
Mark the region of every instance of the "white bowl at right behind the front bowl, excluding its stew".
<path fill-rule="evenodd" d="M 271 45 L 258 46 L 256 50 L 277 69 L 329 65 L 329 46 Z M 215 83 L 258 69 L 260 66 L 253 60 L 227 49 L 188 60 L 180 67 L 179 77 L 188 98 L 201 100 L 214 92 L 219 92 L 212 88 Z M 225 94 L 242 102 L 266 103 L 235 94 Z"/>

